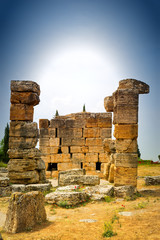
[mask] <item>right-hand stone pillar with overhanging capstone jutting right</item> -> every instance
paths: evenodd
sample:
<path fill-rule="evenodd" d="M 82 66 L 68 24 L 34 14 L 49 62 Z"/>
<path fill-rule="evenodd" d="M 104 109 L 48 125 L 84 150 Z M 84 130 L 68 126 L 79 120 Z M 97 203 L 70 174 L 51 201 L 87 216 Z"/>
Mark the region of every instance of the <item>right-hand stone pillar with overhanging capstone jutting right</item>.
<path fill-rule="evenodd" d="M 135 79 L 119 82 L 112 96 L 105 98 L 106 111 L 113 111 L 115 186 L 137 186 L 138 96 L 149 93 L 149 86 Z"/>

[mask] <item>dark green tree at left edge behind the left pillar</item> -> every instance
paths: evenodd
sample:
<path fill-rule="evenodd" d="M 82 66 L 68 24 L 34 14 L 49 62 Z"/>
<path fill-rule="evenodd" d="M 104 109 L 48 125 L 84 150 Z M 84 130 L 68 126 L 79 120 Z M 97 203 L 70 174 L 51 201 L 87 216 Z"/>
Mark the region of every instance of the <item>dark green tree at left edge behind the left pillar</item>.
<path fill-rule="evenodd" d="M 9 156 L 8 156 L 8 148 L 9 148 L 9 125 L 5 127 L 4 131 L 4 138 L 0 142 L 0 161 L 4 163 L 8 163 Z"/>

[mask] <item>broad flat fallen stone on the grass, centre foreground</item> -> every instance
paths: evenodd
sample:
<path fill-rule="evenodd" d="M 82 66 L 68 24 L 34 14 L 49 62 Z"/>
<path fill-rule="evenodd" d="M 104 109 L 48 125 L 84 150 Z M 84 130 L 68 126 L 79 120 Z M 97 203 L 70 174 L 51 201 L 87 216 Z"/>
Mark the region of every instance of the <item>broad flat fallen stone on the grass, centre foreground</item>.
<path fill-rule="evenodd" d="M 47 203 L 55 203 L 57 205 L 77 205 L 82 202 L 85 202 L 88 198 L 88 195 L 85 192 L 74 192 L 74 191 L 56 191 L 49 193 L 45 196 Z"/>

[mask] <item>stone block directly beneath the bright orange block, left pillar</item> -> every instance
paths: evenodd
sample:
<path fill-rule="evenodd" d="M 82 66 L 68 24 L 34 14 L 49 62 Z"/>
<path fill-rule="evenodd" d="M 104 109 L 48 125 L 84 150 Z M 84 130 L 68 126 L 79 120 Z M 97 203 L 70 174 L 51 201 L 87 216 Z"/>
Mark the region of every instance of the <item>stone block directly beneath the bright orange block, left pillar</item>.
<path fill-rule="evenodd" d="M 38 137 L 37 123 L 12 121 L 10 122 L 9 136 L 37 138 Z"/>

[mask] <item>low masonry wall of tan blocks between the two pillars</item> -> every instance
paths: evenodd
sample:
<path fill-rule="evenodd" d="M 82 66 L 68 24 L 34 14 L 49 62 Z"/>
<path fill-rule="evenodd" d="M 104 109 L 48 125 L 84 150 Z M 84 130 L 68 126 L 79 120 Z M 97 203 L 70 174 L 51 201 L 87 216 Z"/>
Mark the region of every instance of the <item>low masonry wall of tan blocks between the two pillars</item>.
<path fill-rule="evenodd" d="M 104 164 L 109 160 L 103 140 L 111 138 L 111 113 L 86 112 L 58 116 L 50 121 L 40 119 L 39 128 L 39 148 L 48 177 L 75 168 L 84 168 L 87 175 L 103 177 Z"/>

